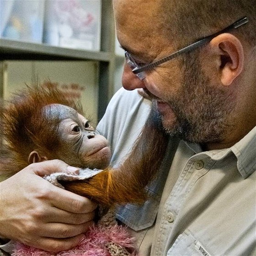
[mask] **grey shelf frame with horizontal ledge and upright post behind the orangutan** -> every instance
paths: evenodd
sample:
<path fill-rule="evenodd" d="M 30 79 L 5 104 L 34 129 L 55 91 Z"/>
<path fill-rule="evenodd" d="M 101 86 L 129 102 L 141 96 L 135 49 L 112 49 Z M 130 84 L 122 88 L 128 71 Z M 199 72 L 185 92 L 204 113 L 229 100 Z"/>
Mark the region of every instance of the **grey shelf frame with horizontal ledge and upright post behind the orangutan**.
<path fill-rule="evenodd" d="M 115 27 L 112 0 L 102 0 L 101 7 L 101 51 L 85 51 L 61 48 L 47 44 L 27 43 L 0 38 L 0 60 L 96 60 L 99 62 L 99 105 L 100 119 L 114 93 L 116 63 Z M 1 84 L 1 81 L 0 81 Z M 0 86 L 0 96 L 2 87 Z"/>

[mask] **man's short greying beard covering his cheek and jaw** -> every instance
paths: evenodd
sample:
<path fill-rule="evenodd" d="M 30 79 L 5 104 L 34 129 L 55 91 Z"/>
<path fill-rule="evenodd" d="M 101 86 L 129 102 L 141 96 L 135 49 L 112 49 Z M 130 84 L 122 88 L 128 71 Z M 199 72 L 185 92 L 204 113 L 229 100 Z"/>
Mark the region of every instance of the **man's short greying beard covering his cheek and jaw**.
<path fill-rule="evenodd" d="M 170 127 L 163 125 L 164 130 L 187 142 L 219 143 L 234 127 L 228 123 L 228 117 L 235 109 L 233 97 L 218 86 L 210 85 L 208 77 L 193 62 L 192 66 L 185 66 L 178 95 L 170 96 L 167 102 L 176 115 L 176 122 Z M 163 123 L 162 118 L 159 113 L 158 122 Z"/>

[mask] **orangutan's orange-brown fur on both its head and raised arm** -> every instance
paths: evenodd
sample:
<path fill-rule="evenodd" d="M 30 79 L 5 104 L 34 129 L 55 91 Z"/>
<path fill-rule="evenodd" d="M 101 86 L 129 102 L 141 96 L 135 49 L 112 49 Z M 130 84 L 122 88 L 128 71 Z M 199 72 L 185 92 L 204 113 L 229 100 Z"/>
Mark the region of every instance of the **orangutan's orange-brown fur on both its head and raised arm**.
<path fill-rule="evenodd" d="M 26 167 L 28 155 L 35 149 L 54 159 L 61 143 L 56 134 L 59 120 L 45 120 L 42 116 L 42 108 L 52 103 L 82 114 L 75 101 L 67 99 L 51 83 L 27 87 L 8 106 L 0 107 L 2 136 L 7 142 L 0 152 L 0 175 L 11 176 Z M 131 154 L 119 168 L 108 167 L 88 181 L 63 181 L 64 187 L 106 206 L 142 203 L 147 198 L 145 187 L 157 175 L 168 142 L 167 135 L 155 124 L 154 114 L 149 115 Z"/>

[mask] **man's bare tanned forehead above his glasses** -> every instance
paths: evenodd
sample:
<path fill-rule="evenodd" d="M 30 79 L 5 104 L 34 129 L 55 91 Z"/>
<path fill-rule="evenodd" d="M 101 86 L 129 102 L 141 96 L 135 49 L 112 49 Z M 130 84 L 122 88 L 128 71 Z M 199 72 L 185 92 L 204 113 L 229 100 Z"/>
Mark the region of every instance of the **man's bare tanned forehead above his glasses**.
<path fill-rule="evenodd" d="M 121 47 L 144 61 L 170 45 L 161 34 L 158 5 L 159 0 L 114 0 L 117 39 Z"/>

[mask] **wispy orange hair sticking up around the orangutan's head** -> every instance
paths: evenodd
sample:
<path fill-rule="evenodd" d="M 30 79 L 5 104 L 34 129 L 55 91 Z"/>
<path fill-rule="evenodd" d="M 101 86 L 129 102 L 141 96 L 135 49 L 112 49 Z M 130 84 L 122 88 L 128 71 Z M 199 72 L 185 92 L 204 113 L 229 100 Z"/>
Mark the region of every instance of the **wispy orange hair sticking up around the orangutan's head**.
<path fill-rule="evenodd" d="M 50 82 L 26 86 L 0 106 L 1 137 L 6 147 L 1 150 L 5 154 L 0 152 L 0 163 L 4 162 L 5 174 L 11 176 L 25 168 L 33 150 L 48 156 L 48 159 L 54 158 L 54 149 L 59 146 L 55 132 L 59 121 L 44 118 L 42 112 L 43 107 L 53 103 L 72 107 L 83 114 L 76 101 L 67 98 L 56 84 Z"/>

